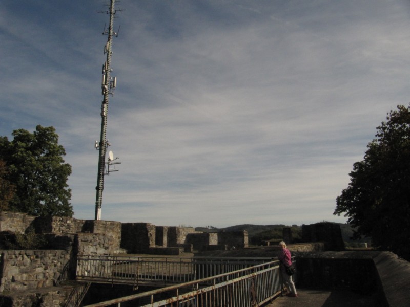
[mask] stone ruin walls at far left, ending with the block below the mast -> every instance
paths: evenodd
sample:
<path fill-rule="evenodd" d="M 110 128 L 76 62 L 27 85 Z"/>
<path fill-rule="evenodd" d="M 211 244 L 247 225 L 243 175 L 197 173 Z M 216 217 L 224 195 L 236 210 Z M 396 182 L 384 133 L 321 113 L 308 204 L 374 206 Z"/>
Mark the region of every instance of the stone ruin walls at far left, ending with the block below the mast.
<path fill-rule="evenodd" d="M 45 235 L 48 249 L 1 250 L 0 293 L 55 286 L 64 268 L 73 266 L 70 263 L 70 260 L 74 260 L 73 254 L 109 255 L 125 252 L 119 247 L 120 222 L 0 212 L 1 231 L 24 233 L 29 227 Z"/>

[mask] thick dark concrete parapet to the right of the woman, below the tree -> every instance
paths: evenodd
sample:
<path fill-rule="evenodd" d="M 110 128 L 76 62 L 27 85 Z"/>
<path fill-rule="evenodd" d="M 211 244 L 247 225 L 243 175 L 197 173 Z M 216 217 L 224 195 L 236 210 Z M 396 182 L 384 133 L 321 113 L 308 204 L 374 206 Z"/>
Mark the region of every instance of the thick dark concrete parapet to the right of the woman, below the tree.
<path fill-rule="evenodd" d="M 410 262 L 391 252 L 295 253 L 298 286 L 346 289 L 377 297 L 378 306 L 410 306 Z"/>

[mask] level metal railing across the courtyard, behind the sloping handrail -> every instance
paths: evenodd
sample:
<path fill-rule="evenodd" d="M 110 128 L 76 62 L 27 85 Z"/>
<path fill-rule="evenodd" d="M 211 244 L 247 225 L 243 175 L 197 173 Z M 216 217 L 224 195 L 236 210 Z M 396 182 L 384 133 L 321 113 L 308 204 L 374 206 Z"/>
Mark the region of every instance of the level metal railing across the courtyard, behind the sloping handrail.
<path fill-rule="evenodd" d="M 269 258 L 172 258 L 78 256 L 77 280 L 127 283 L 183 283 L 248 268 Z"/>

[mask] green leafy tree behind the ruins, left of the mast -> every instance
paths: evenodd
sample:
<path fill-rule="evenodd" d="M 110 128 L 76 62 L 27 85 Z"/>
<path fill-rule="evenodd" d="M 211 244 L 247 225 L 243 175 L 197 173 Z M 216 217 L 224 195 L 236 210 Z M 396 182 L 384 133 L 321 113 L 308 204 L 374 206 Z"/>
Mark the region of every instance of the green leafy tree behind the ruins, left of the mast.
<path fill-rule="evenodd" d="M 13 131 L 14 139 L 0 137 L 0 159 L 8 166 L 4 179 L 16 189 L 9 209 L 31 215 L 72 216 L 71 189 L 67 179 L 71 166 L 64 163 L 54 127 L 38 125 L 34 133 Z"/>

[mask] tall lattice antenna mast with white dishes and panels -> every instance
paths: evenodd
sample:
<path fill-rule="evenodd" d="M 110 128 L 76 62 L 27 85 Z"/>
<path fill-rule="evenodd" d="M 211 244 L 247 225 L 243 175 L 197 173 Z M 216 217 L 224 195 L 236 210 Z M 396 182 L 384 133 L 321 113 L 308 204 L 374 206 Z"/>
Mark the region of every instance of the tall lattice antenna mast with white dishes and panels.
<path fill-rule="evenodd" d="M 108 35 L 107 43 L 104 47 L 104 54 L 107 54 L 107 60 L 103 65 L 103 80 L 101 82 L 101 87 L 103 91 L 103 102 L 101 103 L 101 135 L 99 143 L 95 142 L 95 149 L 99 150 L 98 156 L 98 176 L 97 176 L 97 190 L 96 200 L 95 200 L 95 220 L 101 220 L 101 205 L 103 203 L 103 190 L 104 190 L 104 176 L 109 174 L 111 164 L 119 164 L 120 162 L 111 163 L 113 161 L 112 151 L 110 151 L 110 157 L 108 163 L 106 163 L 106 153 L 107 147 L 111 144 L 106 139 L 107 137 L 107 118 L 108 118 L 108 102 L 110 95 L 114 95 L 114 90 L 116 87 L 117 79 L 111 77 L 111 56 L 112 56 L 112 41 L 113 37 L 118 36 L 119 28 L 117 32 L 114 32 L 114 17 L 115 13 L 115 0 L 110 0 L 110 10 L 107 14 L 110 14 L 110 24 L 108 29 L 104 29 L 103 34 Z M 116 158 L 118 159 L 118 158 Z M 116 160 L 115 159 L 115 160 Z M 108 164 L 108 170 L 106 170 L 106 164 Z"/>

